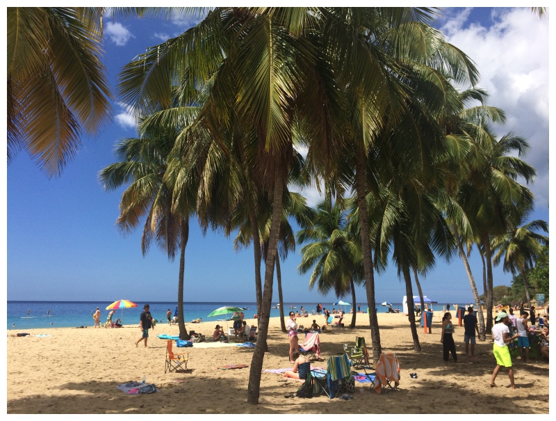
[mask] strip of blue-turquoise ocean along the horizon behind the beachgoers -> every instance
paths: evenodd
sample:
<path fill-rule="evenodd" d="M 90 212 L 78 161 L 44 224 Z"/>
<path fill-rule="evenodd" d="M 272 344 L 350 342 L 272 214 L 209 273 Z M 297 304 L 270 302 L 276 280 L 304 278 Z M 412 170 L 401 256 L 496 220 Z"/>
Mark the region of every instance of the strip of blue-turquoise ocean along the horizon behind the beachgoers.
<path fill-rule="evenodd" d="M 101 324 L 104 324 L 108 311 L 106 307 L 111 305 L 111 301 L 8 301 L 8 330 L 22 331 L 25 328 L 60 328 L 60 327 L 77 327 L 77 326 L 95 326 L 92 319 L 92 314 L 98 307 L 101 310 Z M 123 310 L 116 310 L 113 319 L 120 318 L 123 324 L 138 324 L 139 315 L 142 312 L 142 307 L 145 303 L 137 303 L 137 307 L 124 308 Z M 166 312 L 168 308 L 172 313 L 177 308 L 175 302 L 149 302 L 151 314 L 154 319 L 166 322 Z M 256 313 L 256 303 L 183 303 L 183 316 L 186 323 L 193 319 L 203 319 L 203 321 L 218 321 L 223 320 L 224 316 L 207 317 L 213 310 L 223 307 L 224 305 L 234 305 L 240 308 L 249 308 L 245 310 L 245 317 L 252 318 Z M 272 303 L 276 306 L 276 303 Z M 315 310 L 317 303 L 284 303 L 284 311 L 286 315 L 290 307 L 295 310 L 300 310 L 303 306 L 304 310 L 311 313 Z M 459 304 L 460 306 L 463 304 Z M 322 302 L 325 308 L 336 308 L 338 305 Z M 392 303 L 393 308 L 400 308 L 402 310 L 402 303 Z M 344 306 L 342 306 L 344 308 Z M 350 305 L 345 306 L 347 312 L 350 311 Z M 434 304 L 434 310 L 442 310 L 442 304 Z M 453 308 L 453 307 L 452 307 Z M 27 318 L 27 310 L 30 310 Z M 47 317 L 47 311 L 50 310 L 50 316 Z M 366 303 L 361 303 L 361 310 L 366 311 Z M 377 305 L 378 312 L 387 312 L 388 308 L 382 305 Z M 279 317 L 280 312 L 277 308 L 270 310 L 270 317 Z M 231 317 L 231 315 L 228 315 Z M 15 326 L 13 326 L 15 325 Z"/>

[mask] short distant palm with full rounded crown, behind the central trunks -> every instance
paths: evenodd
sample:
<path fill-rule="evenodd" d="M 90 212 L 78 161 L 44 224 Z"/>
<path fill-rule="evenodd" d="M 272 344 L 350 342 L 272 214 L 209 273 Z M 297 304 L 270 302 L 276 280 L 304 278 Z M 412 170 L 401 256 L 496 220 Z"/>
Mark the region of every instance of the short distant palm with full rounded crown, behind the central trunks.
<path fill-rule="evenodd" d="M 353 308 L 357 308 L 355 284 L 363 282 L 361 248 L 354 235 L 354 225 L 345 220 L 345 211 L 338 201 L 325 199 L 317 205 L 316 214 L 309 224 L 302 225 L 295 235 L 301 249 L 302 261 L 297 267 L 300 274 L 313 267 L 309 289 L 317 285 L 318 292 L 328 294 L 334 289 L 336 298 L 352 293 Z M 354 311 L 350 327 L 355 327 Z"/>

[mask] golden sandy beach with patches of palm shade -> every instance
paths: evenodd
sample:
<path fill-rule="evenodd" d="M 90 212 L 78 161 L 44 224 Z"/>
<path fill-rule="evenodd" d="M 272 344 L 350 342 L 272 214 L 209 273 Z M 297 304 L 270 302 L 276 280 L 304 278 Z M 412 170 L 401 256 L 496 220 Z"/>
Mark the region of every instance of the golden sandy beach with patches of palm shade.
<path fill-rule="evenodd" d="M 452 315 L 455 312 L 452 311 Z M 507 371 L 502 368 L 496 388 L 489 381 L 496 360 L 492 342 L 478 342 L 475 360 L 464 355 L 464 328 L 456 327 L 454 338 L 459 363 L 443 363 L 440 343 L 440 317 L 436 312 L 432 334 L 418 329 L 423 351 L 413 350 L 407 317 L 379 314 L 383 351 L 394 351 L 401 365 L 397 392 L 377 395 L 368 384 L 356 383 L 354 399 L 343 401 L 327 396 L 312 399 L 289 399 L 300 383 L 279 381 L 279 374 L 262 373 L 258 405 L 247 404 L 249 369 L 218 370 L 228 364 L 250 364 L 252 349 L 240 347 L 193 347 L 188 351 L 188 371 L 164 373 L 166 341 L 156 335 L 177 335 L 177 326 L 158 324 L 150 332 L 149 347 L 134 342 L 140 337 L 138 326 L 119 329 L 49 328 L 27 330 L 31 335 L 16 337 L 8 331 L 7 408 L 8 413 L 489 413 L 537 414 L 549 411 L 548 360 L 532 363 L 514 360 L 518 390 L 511 390 Z M 324 317 L 300 319 L 309 326 L 313 318 L 322 324 Z M 349 324 L 351 315 L 344 319 Z M 304 323 L 306 321 L 306 323 Z M 247 319 L 249 324 L 256 320 Z M 221 323 L 221 322 L 218 322 Z M 211 336 L 216 321 L 187 324 Z M 272 318 L 268 335 L 269 353 L 263 370 L 291 367 L 288 362 L 287 335 Z M 231 324 L 230 324 L 231 327 Z M 357 315 L 357 326 L 335 328 L 320 334 L 322 362 L 343 353 L 343 344 L 353 344 L 356 335 L 366 337 L 370 331 L 366 315 Z M 300 336 L 300 338 L 302 335 Z M 180 349 L 181 351 L 181 349 Z M 417 379 L 409 373 L 416 372 Z M 126 395 L 116 386 L 126 381 L 154 383 L 160 392 L 152 395 Z M 185 393 L 176 393 L 182 389 Z"/>

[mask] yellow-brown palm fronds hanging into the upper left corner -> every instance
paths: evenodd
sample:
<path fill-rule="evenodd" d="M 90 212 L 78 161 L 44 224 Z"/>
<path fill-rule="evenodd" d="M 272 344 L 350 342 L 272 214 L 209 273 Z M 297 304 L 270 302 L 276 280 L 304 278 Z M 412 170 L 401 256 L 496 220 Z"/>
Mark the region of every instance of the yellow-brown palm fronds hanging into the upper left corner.
<path fill-rule="evenodd" d="M 58 176 L 111 121 L 95 8 L 8 8 L 8 164 L 21 149 Z"/>

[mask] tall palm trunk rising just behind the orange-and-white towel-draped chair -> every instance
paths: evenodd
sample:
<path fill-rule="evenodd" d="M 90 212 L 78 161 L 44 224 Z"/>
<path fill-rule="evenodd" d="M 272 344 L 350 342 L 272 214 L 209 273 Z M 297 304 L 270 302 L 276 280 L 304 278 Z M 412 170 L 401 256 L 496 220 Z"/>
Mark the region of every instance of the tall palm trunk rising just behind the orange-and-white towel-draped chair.
<path fill-rule="evenodd" d="M 373 342 L 373 359 L 378 361 L 382 354 L 380 331 L 375 302 L 375 274 L 373 273 L 373 253 L 370 248 L 369 223 L 366 202 L 365 164 L 363 145 L 358 144 L 355 151 L 355 187 L 357 189 L 357 207 L 359 208 L 359 225 L 361 227 L 361 251 L 365 269 L 365 287 L 369 306 L 370 338 Z"/>

